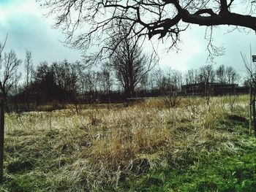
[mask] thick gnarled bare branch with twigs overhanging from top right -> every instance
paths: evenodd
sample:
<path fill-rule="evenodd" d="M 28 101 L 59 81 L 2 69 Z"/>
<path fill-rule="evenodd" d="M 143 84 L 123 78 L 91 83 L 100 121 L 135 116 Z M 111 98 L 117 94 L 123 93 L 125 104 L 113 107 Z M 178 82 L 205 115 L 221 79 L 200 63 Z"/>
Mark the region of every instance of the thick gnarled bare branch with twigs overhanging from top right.
<path fill-rule="evenodd" d="M 256 1 L 249 0 L 38 1 L 49 15 L 56 16 L 55 27 L 67 34 L 66 42 L 83 50 L 91 45 L 108 45 L 105 34 L 124 21 L 129 23 L 129 34 L 146 35 L 149 39 L 167 37 L 170 47 L 177 45 L 181 31 L 189 24 L 210 26 L 210 29 L 212 26 L 241 26 L 256 31 Z M 238 10 L 244 10 L 245 15 Z M 211 40 L 209 45 L 212 45 Z M 102 47 L 101 53 L 108 48 Z"/>

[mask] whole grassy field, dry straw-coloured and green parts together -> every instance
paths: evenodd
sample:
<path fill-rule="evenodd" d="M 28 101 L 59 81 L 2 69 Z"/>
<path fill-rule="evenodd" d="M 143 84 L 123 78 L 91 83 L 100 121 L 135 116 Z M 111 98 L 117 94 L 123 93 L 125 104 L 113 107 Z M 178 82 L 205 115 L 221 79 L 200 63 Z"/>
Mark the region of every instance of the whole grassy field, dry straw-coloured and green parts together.
<path fill-rule="evenodd" d="M 1 191 L 253 191 L 248 98 L 6 115 Z"/>

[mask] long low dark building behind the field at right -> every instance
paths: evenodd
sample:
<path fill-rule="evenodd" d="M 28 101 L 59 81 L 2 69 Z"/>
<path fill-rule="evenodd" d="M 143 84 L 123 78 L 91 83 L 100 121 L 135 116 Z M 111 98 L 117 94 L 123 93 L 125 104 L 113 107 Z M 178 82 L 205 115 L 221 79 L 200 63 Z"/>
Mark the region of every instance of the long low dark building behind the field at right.
<path fill-rule="evenodd" d="M 181 94 L 189 96 L 221 96 L 227 94 L 248 93 L 248 87 L 239 87 L 238 84 L 222 84 L 219 82 L 204 82 L 181 85 Z"/>

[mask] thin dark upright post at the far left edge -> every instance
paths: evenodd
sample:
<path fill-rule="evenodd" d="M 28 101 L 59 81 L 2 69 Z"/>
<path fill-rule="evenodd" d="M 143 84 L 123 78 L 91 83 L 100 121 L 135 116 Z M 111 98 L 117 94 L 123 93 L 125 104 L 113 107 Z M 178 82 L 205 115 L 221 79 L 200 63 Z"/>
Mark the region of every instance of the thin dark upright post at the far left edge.
<path fill-rule="evenodd" d="M 4 97 L 0 93 L 0 184 L 4 176 Z"/>

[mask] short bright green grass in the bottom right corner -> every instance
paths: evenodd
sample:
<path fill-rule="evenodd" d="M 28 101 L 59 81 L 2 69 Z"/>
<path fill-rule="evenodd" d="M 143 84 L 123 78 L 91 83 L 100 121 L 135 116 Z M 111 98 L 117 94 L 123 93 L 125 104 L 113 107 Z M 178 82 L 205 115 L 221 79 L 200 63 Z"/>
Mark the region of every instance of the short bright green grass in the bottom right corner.
<path fill-rule="evenodd" d="M 130 177 L 118 191 L 255 191 L 255 139 L 238 153 L 195 153 L 178 166 Z M 193 162 L 192 162 L 193 161 Z"/>

